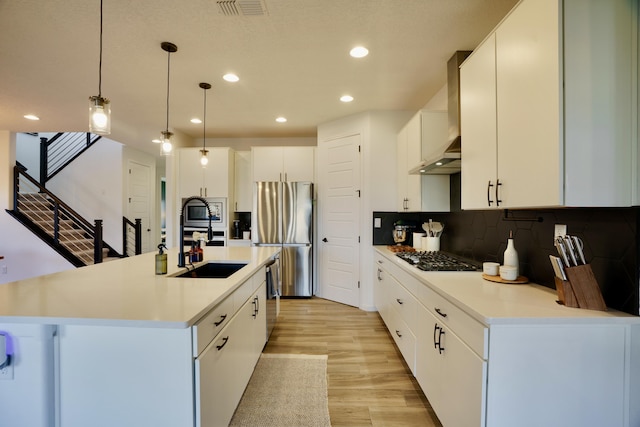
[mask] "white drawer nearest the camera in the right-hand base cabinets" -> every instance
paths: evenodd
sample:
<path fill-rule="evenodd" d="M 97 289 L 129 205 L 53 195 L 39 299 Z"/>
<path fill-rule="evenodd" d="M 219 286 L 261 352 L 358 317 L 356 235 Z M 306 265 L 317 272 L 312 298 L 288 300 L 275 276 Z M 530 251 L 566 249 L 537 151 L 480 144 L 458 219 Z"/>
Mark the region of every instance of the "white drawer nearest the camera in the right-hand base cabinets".
<path fill-rule="evenodd" d="M 426 285 L 418 290 L 418 299 L 438 321 L 447 325 L 478 356 L 488 358 L 488 328 Z"/>

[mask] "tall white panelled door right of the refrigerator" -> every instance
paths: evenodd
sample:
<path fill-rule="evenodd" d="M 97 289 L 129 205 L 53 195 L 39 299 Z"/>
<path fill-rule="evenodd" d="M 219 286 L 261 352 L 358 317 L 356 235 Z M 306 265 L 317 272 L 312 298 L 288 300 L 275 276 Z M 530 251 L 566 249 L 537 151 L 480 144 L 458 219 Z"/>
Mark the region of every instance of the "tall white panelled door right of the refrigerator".
<path fill-rule="evenodd" d="M 360 301 L 360 146 L 350 135 L 318 145 L 319 295 L 358 307 Z"/>

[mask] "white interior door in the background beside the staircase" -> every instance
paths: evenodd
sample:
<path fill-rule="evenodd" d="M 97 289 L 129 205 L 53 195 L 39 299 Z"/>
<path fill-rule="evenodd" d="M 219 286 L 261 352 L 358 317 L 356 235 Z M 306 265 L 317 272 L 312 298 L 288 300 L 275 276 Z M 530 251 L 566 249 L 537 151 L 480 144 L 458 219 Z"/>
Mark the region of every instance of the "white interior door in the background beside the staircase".
<path fill-rule="evenodd" d="M 142 220 L 142 253 L 150 251 L 151 238 L 151 168 L 142 163 L 129 161 L 128 208 L 127 218 Z M 127 232 L 128 245 L 134 245 L 135 237 L 131 229 Z M 128 252 L 133 253 L 135 247 Z"/>

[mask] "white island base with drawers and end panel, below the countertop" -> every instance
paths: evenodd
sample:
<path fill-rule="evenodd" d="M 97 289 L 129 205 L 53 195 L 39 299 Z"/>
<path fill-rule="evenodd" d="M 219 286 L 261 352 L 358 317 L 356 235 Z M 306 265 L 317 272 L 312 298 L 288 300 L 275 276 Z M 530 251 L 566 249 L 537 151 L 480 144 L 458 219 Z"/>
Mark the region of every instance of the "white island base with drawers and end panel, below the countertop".
<path fill-rule="evenodd" d="M 61 427 L 228 425 L 265 344 L 265 295 L 261 268 L 191 328 L 60 325 Z"/>

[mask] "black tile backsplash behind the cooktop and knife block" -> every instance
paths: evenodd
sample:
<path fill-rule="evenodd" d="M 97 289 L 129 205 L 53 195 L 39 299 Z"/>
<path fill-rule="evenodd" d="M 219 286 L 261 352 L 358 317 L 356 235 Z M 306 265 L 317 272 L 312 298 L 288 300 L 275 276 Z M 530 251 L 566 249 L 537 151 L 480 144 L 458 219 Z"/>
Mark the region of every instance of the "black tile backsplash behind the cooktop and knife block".
<path fill-rule="evenodd" d="M 555 224 L 565 224 L 567 233 L 584 241 L 587 262 L 607 305 L 620 311 L 639 313 L 638 238 L 640 208 L 563 208 L 545 210 L 486 210 L 438 213 L 374 212 L 380 228 L 373 229 L 374 245 L 393 245 L 394 223 L 413 226 L 405 244 L 412 245 L 412 231 L 422 231 L 429 219 L 444 224 L 440 249 L 473 260 L 502 263 L 509 232 L 513 232 L 520 261 L 520 274 L 530 281 L 555 289 L 549 255 Z M 375 221 L 374 221 L 375 224 Z"/>

